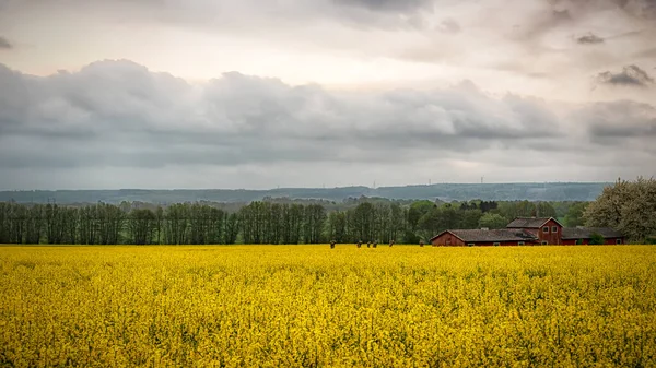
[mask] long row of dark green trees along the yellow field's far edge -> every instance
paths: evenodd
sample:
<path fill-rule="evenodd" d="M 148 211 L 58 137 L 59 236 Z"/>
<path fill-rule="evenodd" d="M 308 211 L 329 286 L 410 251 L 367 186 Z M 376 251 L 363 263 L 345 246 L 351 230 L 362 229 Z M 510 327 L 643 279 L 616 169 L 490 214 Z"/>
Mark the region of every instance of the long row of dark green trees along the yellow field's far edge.
<path fill-rule="evenodd" d="M 555 216 L 547 203 L 470 201 L 321 204 L 256 201 L 229 213 L 202 203 L 143 209 L 0 203 L 0 244 L 207 245 L 377 241 L 417 244 L 447 228 L 502 228 L 515 216 Z"/>

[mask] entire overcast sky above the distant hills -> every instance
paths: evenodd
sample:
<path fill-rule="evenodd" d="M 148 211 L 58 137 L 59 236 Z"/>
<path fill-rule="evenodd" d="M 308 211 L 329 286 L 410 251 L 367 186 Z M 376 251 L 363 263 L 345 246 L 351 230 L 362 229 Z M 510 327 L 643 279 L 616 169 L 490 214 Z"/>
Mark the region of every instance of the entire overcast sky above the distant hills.
<path fill-rule="evenodd" d="M 655 0 L 0 0 L 0 190 L 656 176 Z"/>

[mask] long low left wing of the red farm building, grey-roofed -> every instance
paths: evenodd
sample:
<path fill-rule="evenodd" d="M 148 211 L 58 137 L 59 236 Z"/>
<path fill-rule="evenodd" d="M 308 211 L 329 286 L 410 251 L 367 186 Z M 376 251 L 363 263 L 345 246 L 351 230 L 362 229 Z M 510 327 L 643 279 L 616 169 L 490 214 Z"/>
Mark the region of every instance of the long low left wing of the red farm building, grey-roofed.
<path fill-rule="evenodd" d="M 473 247 L 473 246 L 524 246 L 532 245 L 537 238 L 523 230 L 512 229 L 468 229 L 445 230 L 431 238 L 435 247 Z"/>

